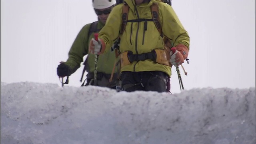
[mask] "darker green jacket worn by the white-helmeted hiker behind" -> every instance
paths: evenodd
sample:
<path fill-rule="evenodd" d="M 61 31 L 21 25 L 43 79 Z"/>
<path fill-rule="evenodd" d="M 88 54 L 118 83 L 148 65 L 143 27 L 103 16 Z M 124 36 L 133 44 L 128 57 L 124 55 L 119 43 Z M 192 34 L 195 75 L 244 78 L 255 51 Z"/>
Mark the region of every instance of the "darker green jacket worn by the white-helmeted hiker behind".
<path fill-rule="evenodd" d="M 90 24 L 86 24 L 76 36 L 74 43 L 72 44 L 70 51 L 68 52 L 68 60 L 65 62 L 72 69 L 72 73 L 76 72 L 78 68 L 80 68 L 81 62 L 83 62 L 83 57 L 88 54 L 88 62 L 87 62 L 87 72 L 94 72 L 94 54 L 91 54 L 88 51 L 88 46 L 90 44 L 90 40 L 93 38 L 94 33 L 92 33 L 88 38 L 88 32 L 90 28 Z M 102 29 L 104 24 L 98 21 L 98 29 Z M 105 54 L 102 54 L 98 58 L 97 62 L 97 71 L 104 72 L 106 74 L 111 74 L 112 68 L 115 62 L 115 52 L 111 52 L 109 49 Z M 117 72 L 117 69 L 115 69 Z"/>

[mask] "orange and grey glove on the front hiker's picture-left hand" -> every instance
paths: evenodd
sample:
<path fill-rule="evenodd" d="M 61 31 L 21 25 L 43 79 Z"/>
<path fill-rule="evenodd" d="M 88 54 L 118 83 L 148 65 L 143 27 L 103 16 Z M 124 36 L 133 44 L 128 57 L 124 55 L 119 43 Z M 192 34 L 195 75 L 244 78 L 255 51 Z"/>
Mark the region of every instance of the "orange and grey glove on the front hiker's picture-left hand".
<path fill-rule="evenodd" d="M 90 41 L 89 52 L 92 54 L 100 55 L 106 48 L 105 42 L 102 39 L 95 40 L 92 38 Z"/>

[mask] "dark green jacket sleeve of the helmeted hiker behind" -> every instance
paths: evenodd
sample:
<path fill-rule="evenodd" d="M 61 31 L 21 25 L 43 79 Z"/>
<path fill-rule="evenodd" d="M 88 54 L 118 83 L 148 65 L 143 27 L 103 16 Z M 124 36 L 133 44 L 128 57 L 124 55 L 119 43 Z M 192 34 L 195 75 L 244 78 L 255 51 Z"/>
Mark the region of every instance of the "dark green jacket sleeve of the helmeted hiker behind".
<path fill-rule="evenodd" d="M 76 36 L 69 52 L 68 60 L 65 62 L 71 70 L 72 74 L 80 68 L 81 62 L 83 62 L 83 57 L 88 54 L 88 32 L 90 24 L 86 24 Z"/>

